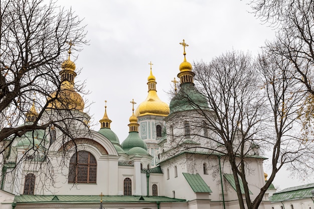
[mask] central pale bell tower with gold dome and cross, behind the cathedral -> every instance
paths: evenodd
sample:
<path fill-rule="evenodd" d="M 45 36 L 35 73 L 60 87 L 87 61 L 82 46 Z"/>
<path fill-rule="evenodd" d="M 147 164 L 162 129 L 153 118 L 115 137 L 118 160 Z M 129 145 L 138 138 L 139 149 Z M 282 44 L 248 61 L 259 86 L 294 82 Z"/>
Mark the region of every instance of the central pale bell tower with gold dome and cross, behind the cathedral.
<path fill-rule="evenodd" d="M 166 137 L 164 118 L 170 113 L 169 105 L 157 95 L 156 78 L 151 71 L 147 78 L 148 95 L 145 101 L 136 108 L 135 115 L 139 124 L 139 135 L 147 145 L 148 153 L 153 156 L 151 167 L 159 163 L 160 148 L 158 143 Z"/>

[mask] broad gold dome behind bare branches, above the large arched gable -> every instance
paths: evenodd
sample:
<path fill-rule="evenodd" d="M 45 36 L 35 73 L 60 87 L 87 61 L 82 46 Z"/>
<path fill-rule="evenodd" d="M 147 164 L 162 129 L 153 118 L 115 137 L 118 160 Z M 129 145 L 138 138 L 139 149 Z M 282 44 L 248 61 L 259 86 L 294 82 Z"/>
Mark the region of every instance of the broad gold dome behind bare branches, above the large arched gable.
<path fill-rule="evenodd" d="M 84 109 L 84 100 L 79 93 L 77 93 L 74 88 L 71 88 L 71 84 L 68 81 L 64 81 L 61 89 L 58 93 L 57 99 L 50 102 L 47 108 L 53 109 L 76 109 L 83 111 Z M 54 92 L 50 95 L 50 98 L 56 98 L 57 92 Z"/>

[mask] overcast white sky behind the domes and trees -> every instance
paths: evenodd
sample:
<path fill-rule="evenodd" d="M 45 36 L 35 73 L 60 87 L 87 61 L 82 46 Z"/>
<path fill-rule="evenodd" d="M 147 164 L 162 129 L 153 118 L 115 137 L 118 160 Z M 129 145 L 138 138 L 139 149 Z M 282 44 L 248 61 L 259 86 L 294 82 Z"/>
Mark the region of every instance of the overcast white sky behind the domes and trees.
<path fill-rule="evenodd" d="M 275 32 L 248 13 L 247 3 L 247 0 L 59 1 L 65 8 L 72 7 L 87 25 L 89 45 L 79 54 L 72 51 L 72 55 L 78 56 L 75 64 L 82 69 L 76 81 L 86 80 L 86 90 L 90 91 L 84 98 L 88 99 L 92 129 L 99 130 L 98 121 L 103 117 L 107 100 L 111 129 L 120 142 L 127 137 L 130 101 L 134 99 L 138 105 L 145 100 L 150 61 L 158 95 L 169 103 L 166 92 L 183 62 L 183 48 L 179 44 L 183 39 L 189 45 L 186 57 L 190 63 L 209 62 L 233 49 L 255 56 L 265 40 L 274 38 Z M 264 169 L 270 174 L 266 166 Z M 280 189 L 305 183 L 308 181 L 297 181 L 285 170 L 273 182 Z"/>

